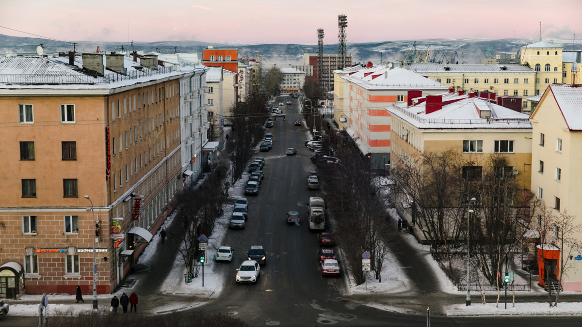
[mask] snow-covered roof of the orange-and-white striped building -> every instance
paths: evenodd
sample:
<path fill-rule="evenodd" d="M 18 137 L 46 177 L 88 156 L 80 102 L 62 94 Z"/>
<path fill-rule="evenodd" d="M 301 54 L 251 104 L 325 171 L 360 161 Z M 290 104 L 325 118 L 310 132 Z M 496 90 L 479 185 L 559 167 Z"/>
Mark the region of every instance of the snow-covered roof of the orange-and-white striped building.
<path fill-rule="evenodd" d="M 447 90 L 438 81 L 411 72 L 404 68 L 371 67 L 342 76 L 342 79 L 357 84 L 366 90 Z"/>

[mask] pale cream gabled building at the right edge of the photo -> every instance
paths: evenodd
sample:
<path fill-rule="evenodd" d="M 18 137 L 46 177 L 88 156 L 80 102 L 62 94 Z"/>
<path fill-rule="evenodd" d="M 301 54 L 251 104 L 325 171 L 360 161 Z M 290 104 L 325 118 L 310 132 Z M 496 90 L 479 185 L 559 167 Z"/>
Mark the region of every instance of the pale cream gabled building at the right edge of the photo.
<path fill-rule="evenodd" d="M 582 86 L 552 84 L 530 117 L 533 123 L 531 189 L 542 205 L 553 208 L 556 214 L 567 210 L 576 217 L 576 224 L 582 223 L 581 113 Z M 581 240 L 582 233 L 574 238 Z M 569 252 L 569 249 L 560 250 L 560 254 Z M 562 287 L 565 291 L 582 291 L 582 251 L 574 250 L 571 255 L 574 260 L 569 261 L 570 268 L 563 272 Z"/>

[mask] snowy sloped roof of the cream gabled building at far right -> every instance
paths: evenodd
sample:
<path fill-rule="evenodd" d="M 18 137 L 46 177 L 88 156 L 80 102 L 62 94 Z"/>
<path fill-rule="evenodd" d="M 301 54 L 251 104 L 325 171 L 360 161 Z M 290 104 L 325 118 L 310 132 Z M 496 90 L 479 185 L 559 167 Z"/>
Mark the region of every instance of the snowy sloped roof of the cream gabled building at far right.
<path fill-rule="evenodd" d="M 570 130 L 582 131 L 582 85 L 550 84 L 553 97 Z"/>

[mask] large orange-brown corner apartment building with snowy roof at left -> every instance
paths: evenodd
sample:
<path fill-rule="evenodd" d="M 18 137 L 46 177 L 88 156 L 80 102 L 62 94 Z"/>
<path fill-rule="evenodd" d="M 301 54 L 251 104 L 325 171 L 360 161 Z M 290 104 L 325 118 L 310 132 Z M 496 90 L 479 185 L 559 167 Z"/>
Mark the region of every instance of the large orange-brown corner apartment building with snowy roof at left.
<path fill-rule="evenodd" d="M 0 57 L 0 296 L 116 288 L 180 189 L 182 76 L 135 53 Z"/>

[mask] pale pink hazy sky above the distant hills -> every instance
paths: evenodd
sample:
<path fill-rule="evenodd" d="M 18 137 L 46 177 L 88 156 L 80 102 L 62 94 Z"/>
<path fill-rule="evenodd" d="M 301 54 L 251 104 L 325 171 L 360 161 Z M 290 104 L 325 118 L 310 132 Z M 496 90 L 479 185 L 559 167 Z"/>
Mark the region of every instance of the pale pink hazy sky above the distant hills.
<path fill-rule="evenodd" d="M 582 0 L 0 0 L 0 34 L 61 41 L 317 44 L 430 38 L 582 40 Z M 26 19 L 23 19 L 26 17 Z"/>

